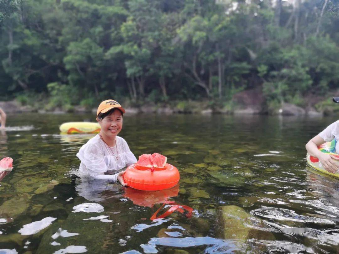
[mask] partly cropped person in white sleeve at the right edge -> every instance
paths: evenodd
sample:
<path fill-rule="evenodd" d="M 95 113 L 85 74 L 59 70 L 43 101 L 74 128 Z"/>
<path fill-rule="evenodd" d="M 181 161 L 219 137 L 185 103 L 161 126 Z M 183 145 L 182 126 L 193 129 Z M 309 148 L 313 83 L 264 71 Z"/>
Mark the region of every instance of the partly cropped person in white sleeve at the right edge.
<path fill-rule="evenodd" d="M 333 98 L 333 101 L 335 103 L 339 103 L 339 97 Z M 328 125 L 326 129 L 324 129 L 322 132 L 320 132 L 318 135 L 313 137 L 308 143 L 306 144 L 306 150 L 307 152 L 312 155 L 313 157 L 316 157 L 319 159 L 320 163 L 323 165 L 324 169 L 326 169 L 328 172 L 331 173 L 339 173 L 339 167 L 338 164 L 335 162 L 335 160 L 339 160 L 338 157 L 326 154 L 318 150 L 318 146 L 321 144 L 332 141 L 336 139 L 336 152 L 339 152 L 339 120 Z"/>

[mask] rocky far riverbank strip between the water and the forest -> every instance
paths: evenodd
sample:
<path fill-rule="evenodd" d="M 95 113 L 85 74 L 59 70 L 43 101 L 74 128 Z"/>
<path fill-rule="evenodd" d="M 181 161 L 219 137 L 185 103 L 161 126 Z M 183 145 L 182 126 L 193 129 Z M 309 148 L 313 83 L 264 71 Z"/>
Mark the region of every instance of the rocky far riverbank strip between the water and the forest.
<path fill-rule="evenodd" d="M 339 92 L 332 91 L 332 96 Z M 158 113 L 158 114 L 281 114 L 322 116 L 339 113 L 339 105 L 332 102 L 332 96 L 308 95 L 298 103 L 279 103 L 274 106 L 266 101 L 261 89 L 245 90 L 236 93 L 229 101 L 202 99 L 176 100 L 167 102 L 132 102 L 121 100 L 128 114 Z M 38 113 L 89 113 L 96 112 L 93 105 L 65 105 L 51 107 L 48 98 L 45 102 L 22 103 L 20 100 L 0 101 L 0 107 L 7 113 L 38 112 Z"/>

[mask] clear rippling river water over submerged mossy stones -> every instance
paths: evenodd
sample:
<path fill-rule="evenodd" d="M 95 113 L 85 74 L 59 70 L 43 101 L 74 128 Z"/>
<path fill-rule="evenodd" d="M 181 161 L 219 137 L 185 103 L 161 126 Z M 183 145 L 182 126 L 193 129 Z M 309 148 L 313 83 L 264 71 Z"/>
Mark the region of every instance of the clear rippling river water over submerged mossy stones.
<path fill-rule="evenodd" d="M 339 252 L 339 181 L 305 161 L 335 118 L 125 115 L 120 136 L 136 157 L 158 152 L 180 171 L 180 186 L 160 192 L 77 177 L 93 135 L 58 126 L 88 120 L 8 116 L 0 253 Z"/>

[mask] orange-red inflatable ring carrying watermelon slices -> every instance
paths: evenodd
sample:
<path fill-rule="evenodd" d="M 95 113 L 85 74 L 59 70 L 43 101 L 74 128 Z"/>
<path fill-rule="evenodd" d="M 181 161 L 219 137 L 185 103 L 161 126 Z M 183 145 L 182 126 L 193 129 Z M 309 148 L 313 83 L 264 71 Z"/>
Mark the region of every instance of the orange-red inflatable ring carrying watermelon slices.
<path fill-rule="evenodd" d="M 129 187 L 137 190 L 156 191 L 172 188 L 180 179 L 176 167 L 166 163 L 164 168 L 141 170 L 132 164 L 126 169 L 123 178 Z"/>

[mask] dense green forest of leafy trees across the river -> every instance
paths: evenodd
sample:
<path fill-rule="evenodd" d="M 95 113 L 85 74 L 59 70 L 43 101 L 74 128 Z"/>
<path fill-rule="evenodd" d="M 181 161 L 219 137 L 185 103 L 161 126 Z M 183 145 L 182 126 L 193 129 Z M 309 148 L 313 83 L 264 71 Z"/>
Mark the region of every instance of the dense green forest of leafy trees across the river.
<path fill-rule="evenodd" d="M 321 111 L 339 88 L 338 2 L 0 0 L 0 100 Z"/>

